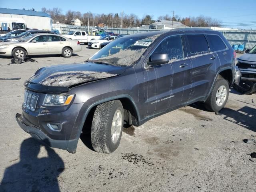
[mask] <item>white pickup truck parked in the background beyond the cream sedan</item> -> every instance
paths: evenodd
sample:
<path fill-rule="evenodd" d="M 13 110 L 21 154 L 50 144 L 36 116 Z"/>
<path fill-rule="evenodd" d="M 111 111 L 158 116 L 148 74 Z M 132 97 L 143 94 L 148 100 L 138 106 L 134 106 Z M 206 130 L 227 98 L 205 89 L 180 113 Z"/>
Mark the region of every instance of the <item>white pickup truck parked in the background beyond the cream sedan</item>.
<path fill-rule="evenodd" d="M 99 39 L 101 36 L 88 35 L 85 31 L 70 31 L 67 35 L 63 35 L 70 39 L 77 39 L 80 43 L 88 43 L 90 40 Z"/>

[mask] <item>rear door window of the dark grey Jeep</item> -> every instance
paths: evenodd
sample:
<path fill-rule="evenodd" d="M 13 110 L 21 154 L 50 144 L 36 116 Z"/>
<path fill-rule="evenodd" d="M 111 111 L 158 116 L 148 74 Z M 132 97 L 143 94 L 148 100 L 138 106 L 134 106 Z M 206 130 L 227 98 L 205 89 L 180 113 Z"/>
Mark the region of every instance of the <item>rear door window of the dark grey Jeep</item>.
<path fill-rule="evenodd" d="M 209 52 L 208 42 L 203 34 L 187 35 L 190 52 L 193 55 Z"/>

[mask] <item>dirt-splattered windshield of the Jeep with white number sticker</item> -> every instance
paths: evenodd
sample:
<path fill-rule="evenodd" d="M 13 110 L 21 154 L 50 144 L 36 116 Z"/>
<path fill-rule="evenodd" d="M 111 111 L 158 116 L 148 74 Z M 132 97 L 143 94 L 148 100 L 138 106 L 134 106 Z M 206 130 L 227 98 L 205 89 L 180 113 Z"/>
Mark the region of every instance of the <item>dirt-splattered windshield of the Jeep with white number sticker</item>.
<path fill-rule="evenodd" d="M 132 66 L 160 34 L 149 37 L 129 38 L 127 36 L 127 38 L 116 39 L 104 46 L 88 61 L 114 66 Z"/>

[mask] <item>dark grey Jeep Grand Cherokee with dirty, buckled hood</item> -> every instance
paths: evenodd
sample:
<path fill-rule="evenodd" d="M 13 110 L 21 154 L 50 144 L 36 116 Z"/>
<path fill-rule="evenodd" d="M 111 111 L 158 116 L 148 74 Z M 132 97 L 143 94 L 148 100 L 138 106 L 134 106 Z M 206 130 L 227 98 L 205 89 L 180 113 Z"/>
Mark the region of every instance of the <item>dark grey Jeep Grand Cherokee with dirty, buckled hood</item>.
<path fill-rule="evenodd" d="M 90 132 L 97 152 L 118 147 L 124 122 L 146 121 L 194 102 L 221 110 L 235 78 L 235 53 L 213 30 L 177 29 L 124 36 L 84 63 L 40 68 L 24 86 L 20 127 L 76 152 Z"/>

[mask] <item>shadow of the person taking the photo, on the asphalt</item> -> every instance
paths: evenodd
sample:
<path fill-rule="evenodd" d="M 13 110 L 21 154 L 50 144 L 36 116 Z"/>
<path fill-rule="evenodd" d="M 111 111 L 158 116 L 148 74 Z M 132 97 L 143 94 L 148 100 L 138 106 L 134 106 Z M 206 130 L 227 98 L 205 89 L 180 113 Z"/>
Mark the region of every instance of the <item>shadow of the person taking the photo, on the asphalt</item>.
<path fill-rule="evenodd" d="M 46 149 L 48 157 L 38 158 L 41 146 Z M 4 171 L 0 191 L 58 192 L 57 178 L 63 171 L 64 162 L 52 148 L 28 138 L 20 146 L 20 162 Z"/>

